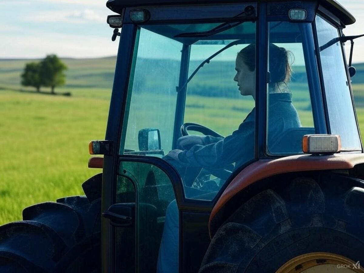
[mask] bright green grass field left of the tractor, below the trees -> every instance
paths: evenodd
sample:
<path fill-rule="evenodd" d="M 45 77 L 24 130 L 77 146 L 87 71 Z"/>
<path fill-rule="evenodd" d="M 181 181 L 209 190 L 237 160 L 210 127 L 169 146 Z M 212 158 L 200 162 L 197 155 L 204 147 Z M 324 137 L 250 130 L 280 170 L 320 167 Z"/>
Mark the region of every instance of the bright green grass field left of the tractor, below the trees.
<path fill-rule="evenodd" d="M 34 203 L 82 194 L 82 182 L 99 172 L 87 168 L 88 142 L 104 139 L 109 100 L 105 90 L 91 92 L 101 95 L 0 91 L 0 224 Z"/>

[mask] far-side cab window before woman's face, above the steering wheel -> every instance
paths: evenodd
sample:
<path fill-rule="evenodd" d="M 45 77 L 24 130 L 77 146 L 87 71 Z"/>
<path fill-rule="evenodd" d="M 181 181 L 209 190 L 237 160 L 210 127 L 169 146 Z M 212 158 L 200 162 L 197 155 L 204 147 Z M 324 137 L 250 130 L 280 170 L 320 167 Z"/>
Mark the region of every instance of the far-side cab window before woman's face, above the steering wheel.
<path fill-rule="evenodd" d="M 254 33 L 254 23 L 247 22 L 244 27 L 249 27 L 250 32 Z M 189 76 L 203 60 L 230 42 L 210 40 L 192 44 Z M 254 108 L 253 97 L 242 96 L 238 82 L 234 80 L 237 53 L 248 45 L 239 44 L 224 50 L 191 79 L 187 87 L 184 122 L 205 125 L 223 136 L 230 135 L 238 128 L 242 116 L 247 116 Z"/>

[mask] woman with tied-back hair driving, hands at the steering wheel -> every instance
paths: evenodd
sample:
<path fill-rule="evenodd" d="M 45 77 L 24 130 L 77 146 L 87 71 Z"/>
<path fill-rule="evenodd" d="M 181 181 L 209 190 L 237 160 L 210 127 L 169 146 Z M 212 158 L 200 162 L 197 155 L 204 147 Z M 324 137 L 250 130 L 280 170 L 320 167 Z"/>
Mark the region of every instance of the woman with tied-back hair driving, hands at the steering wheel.
<path fill-rule="evenodd" d="M 242 96 L 252 96 L 255 100 L 256 59 L 255 44 L 243 48 L 236 58 L 236 75 L 238 89 Z M 269 46 L 269 137 L 277 138 L 278 134 L 288 128 L 300 127 L 300 119 L 292 105 L 292 94 L 287 83 L 292 74 L 290 52 L 274 44 Z M 232 163 L 241 166 L 254 157 L 254 119 L 255 108 L 246 116 L 239 128 L 225 138 L 212 136 L 187 135 L 178 139 L 180 150 L 171 150 L 166 159 L 173 159 L 185 167 L 204 167 L 221 169 Z"/>

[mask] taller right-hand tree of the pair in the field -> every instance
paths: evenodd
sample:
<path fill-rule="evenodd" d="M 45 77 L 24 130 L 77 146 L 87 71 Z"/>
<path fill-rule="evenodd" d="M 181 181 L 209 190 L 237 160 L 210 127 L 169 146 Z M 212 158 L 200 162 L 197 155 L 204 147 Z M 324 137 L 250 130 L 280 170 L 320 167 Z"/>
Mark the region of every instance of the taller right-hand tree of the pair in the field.
<path fill-rule="evenodd" d="M 51 87 L 54 94 L 56 86 L 66 83 L 66 75 L 63 73 L 65 70 L 67 66 L 56 55 L 48 55 L 40 62 L 41 85 Z"/>

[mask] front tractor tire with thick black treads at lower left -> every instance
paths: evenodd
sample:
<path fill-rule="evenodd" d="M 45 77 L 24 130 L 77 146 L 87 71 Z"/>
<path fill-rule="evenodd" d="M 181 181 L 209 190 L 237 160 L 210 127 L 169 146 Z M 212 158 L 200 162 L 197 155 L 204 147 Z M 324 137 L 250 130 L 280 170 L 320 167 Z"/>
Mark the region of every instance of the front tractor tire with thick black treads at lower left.
<path fill-rule="evenodd" d="M 86 196 L 23 210 L 23 221 L 0 227 L 1 273 L 100 272 L 102 174 L 83 183 Z"/>

